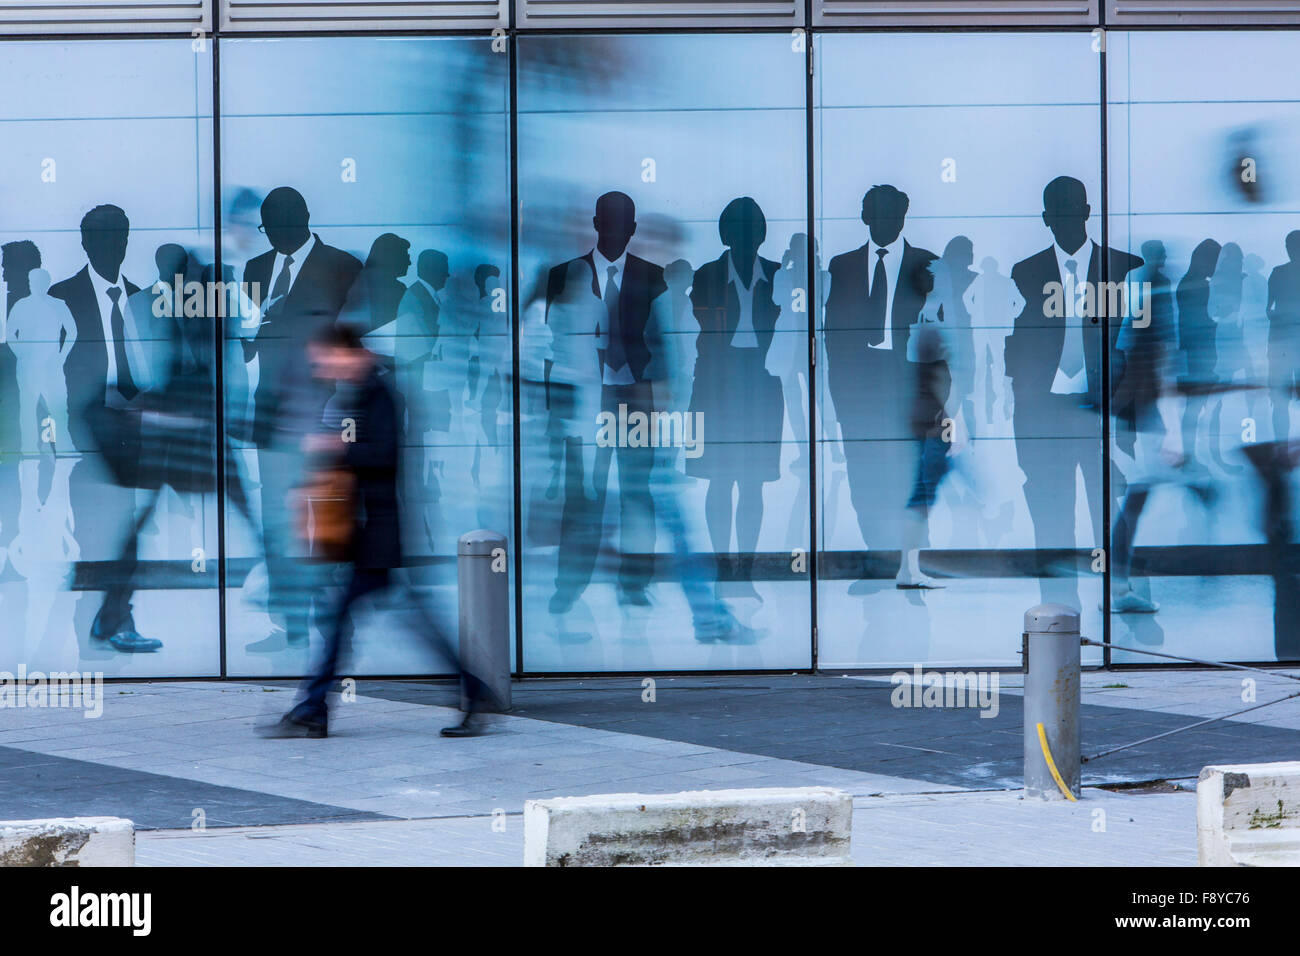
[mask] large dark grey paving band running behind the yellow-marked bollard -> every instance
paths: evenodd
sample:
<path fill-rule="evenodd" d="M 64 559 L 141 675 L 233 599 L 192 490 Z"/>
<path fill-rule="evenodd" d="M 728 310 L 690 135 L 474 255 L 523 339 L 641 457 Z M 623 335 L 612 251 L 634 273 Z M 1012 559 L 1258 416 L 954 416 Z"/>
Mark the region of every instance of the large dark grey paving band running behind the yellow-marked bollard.
<path fill-rule="evenodd" d="M 454 685 L 446 683 L 360 682 L 358 689 L 387 700 L 455 705 Z M 1001 695 L 998 715 L 982 718 L 976 709 L 896 709 L 892 691 L 885 683 L 819 675 L 744 676 L 734 682 L 656 678 L 655 702 L 644 704 L 641 682 L 633 678 L 599 683 L 543 679 L 515 684 L 512 713 L 958 787 L 1022 784 L 1019 695 Z M 1202 719 L 1098 705 L 1084 705 L 1080 717 L 1084 756 Z M 1300 731 L 1212 723 L 1086 763 L 1083 780 L 1187 778 L 1208 763 L 1268 762 L 1296 753 Z"/>

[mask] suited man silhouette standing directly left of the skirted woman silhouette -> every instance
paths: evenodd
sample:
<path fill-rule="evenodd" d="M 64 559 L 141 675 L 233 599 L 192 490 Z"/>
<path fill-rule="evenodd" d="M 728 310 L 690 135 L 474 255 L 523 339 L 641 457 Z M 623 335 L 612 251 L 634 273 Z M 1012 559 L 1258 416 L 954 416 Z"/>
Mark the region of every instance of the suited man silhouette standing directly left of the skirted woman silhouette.
<path fill-rule="evenodd" d="M 636 204 L 623 193 L 606 193 L 595 203 L 595 247 L 586 255 L 554 267 L 546 281 L 546 320 L 559 302 L 569 307 L 575 323 L 566 329 L 552 329 L 555 338 L 567 338 L 569 362 L 582 362 L 594 372 L 595 381 L 572 382 L 572 388 L 599 389 L 599 411 L 619 416 L 654 410 L 654 395 L 647 367 L 650 345 L 646 324 L 651 304 L 667 291 L 663 268 L 628 252 L 628 243 L 637 232 Z M 588 334 L 589 333 L 589 334 Z M 592 410 L 578 402 L 577 408 Z M 592 579 L 599 549 L 604 492 L 610 462 L 619 464 L 619 592 L 623 601 L 645 606 L 650 602 L 646 587 L 654 561 L 654 501 L 650 496 L 653 447 L 597 447 L 592 484 L 595 501 L 586 497 L 585 458 L 582 445 L 592 444 L 597 419 L 576 412 L 572 434 L 566 442 L 566 494 L 560 524 L 559 570 L 551 614 L 568 611 Z"/>

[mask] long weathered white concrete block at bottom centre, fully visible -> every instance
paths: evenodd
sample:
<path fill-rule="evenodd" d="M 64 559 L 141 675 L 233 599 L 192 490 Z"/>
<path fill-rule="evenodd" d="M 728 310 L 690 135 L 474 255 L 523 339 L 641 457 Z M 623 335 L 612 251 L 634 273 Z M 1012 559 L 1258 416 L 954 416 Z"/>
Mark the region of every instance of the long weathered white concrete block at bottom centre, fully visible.
<path fill-rule="evenodd" d="M 844 866 L 852 829 L 829 787 L 529 800 L 524 865 Z"/>

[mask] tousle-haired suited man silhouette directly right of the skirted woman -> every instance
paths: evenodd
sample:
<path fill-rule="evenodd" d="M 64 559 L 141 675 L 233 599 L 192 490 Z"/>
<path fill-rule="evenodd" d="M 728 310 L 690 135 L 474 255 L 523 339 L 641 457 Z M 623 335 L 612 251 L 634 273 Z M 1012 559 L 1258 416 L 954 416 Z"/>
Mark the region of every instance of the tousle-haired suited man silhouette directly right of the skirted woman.
<path fill-rule="evenodd" d="M 862 540 L 897 537 L 911 488 L 913 384 L 907 334 L 930 291 L 935 254 L 902 237 L 907 195 L 872 186 L 862 198 L 870 239 L 831 260 L 826 352 L 844 441 L 849 497 Z M 898 442 L 881 445 L 881 441 Z"/>

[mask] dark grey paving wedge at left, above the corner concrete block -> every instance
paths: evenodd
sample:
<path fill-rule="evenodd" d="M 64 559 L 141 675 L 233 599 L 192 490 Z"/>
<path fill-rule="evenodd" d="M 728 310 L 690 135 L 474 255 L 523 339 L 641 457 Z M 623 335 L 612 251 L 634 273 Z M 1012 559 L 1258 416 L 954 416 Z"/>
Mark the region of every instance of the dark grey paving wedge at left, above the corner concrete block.
<path fill-rule="evenodd" d="M 393 819 L 309 800 L 0 747 L 0 819 L 125 817 L 139 830 Z"/>

